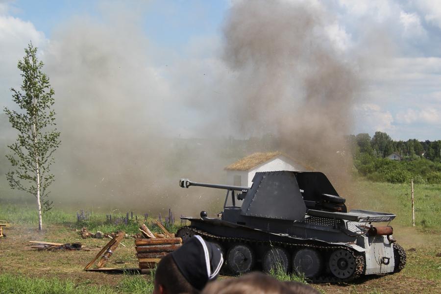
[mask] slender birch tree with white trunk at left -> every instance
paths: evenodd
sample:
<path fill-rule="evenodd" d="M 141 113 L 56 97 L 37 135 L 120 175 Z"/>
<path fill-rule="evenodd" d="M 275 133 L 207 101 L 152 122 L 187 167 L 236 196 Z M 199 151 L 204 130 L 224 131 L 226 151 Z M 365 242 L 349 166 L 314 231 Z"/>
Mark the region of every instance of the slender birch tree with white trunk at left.
<path fill-rule="evenodd" d="M 42 230 L 42 213 L 49 211 L 48 187 L 54 180 L 49 167 L 54 162 L 53 152 L 59 147 L 60 132 L 54 127 L 54 91 L 49 77 L 41 70 L 43 62 L 37 59 L 37 48 L 30 42 L 25 57 L 19 60 L 22 72 L 21 91 L 11 88 L 17 111 L 4 108 L 12 127 L 17 130 L 15 143 L 9 145 L 12 154 L 6 155 L 12 169 L 6 173 L 12 189 L 25 191 L 37 200 L 38 229 Z"/>

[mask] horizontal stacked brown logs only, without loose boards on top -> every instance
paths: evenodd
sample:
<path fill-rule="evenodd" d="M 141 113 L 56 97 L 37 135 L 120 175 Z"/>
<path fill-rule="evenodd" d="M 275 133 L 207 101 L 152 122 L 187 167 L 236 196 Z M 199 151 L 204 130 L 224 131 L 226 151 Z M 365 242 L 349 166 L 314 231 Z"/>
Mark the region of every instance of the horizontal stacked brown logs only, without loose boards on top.
<path fill-rule="evenodd" d="M 135 239 L 140 269 L 154 269 L 157 263 L 182 245 L 181 238 Z"/>

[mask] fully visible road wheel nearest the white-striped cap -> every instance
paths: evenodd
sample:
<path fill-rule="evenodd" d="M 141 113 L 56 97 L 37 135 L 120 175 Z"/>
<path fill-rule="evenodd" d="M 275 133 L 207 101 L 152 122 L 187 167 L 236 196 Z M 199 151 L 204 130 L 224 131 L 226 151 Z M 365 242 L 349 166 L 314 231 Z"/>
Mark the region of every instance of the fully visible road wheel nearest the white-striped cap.
<path fill-rule="evenodd" d="M 248 245 L 237 244 L 228 250 L 226 264 L 235 275 L 250 271 L 254 262 L 254 253 Z"/>

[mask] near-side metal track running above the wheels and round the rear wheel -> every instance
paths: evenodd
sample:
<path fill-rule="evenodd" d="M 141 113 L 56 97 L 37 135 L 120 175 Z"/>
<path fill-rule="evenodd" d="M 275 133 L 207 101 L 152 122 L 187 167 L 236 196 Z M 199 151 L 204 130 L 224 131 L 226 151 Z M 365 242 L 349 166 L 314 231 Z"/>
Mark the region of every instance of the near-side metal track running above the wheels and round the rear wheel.
<path fill-rule="evenodd" d="M 221 237 L 217 235 L 210 234 L 206 231 L 200 230 L 194 226 L 184 226 L 180 228 L 176 232 L 176 236 L 179 236 L 179 232 L 181 230 L 190 230 L 194 232 L 195 235 L 203 236 L 204 239 L 207 241 L 216 241 L 220 243 L 224 242 L 232 242 L 232 243 L 245 243 L 250 245 L 268 245 L 268 246 L 274 246 L 279 245 L 285 248 L 291 248 L 291 249 L 298 249 L 301 247 L 312 247 L 320 252 L 324 252 L 326 256 L 328 256 L 331 252 L 328 251 L 334 251 L 336 249 L 343 249 L 347 250 L 352 253 L 352 255 L 355 258 L 355 272 L 350 277 L 341 279 L 336 276 L 334 276 L 332 273 L 327 275 L 320 275 L 318 277 L 310 279 L 313 282 L 318 283 L 343 283 L 343 282 L 350 282 L 358 277 L 360 277 L 364 271 L 365 271 L 365 257 L 361 255 L 360 253 L 354 251 L 353 249 L 346 247 L 346 246 L 338 246 L 338 245 L 329 245 L 329 246 L 323 246 L 323 245 L 315 245 L 315 244 L 296 244 L 296 243 L 290 243 L 290 242 L 274 242 L 274 241 L 262 241 L 262 240 L 252 240 L 252 239 L 246 239 L 246 238 L 235 238 L 235 237 Z M 326 265 L 324 265 L 326 266 Z"/>

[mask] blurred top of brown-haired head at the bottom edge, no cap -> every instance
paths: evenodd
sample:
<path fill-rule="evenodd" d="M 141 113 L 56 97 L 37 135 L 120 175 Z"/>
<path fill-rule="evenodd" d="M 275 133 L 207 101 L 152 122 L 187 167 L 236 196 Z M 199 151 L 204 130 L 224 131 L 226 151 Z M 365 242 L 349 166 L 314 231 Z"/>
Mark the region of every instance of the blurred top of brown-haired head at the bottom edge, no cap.
<path fill-rule="evenodd" d="M 293 282 L 294 283 L 294 282 Z M 298 283 L 300 284 L 300 283 Z M 300 292 L 297 292 L 300 291 Z M 208 284 L 202 294 L 317 294 L 308 285 L 280 282 L 261 272 L 252 272 L 240 278 L 229 278 Z"/>

